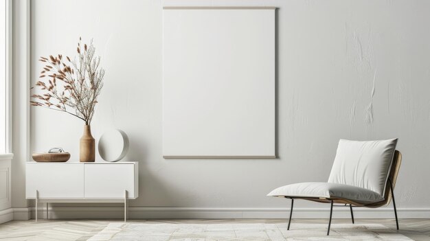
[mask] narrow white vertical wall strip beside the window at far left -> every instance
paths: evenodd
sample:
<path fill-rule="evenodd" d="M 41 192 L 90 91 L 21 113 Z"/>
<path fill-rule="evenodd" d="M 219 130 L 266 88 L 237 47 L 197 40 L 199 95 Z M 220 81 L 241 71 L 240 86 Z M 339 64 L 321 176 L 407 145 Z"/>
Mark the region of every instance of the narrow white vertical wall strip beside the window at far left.
<path fill-rule="evenodd" d="M 12 207 L 14 219 L 27 219 L 25 161 L 30 148 L 30 28 L 27 27 L 30 1 L 12 2 Z"/>

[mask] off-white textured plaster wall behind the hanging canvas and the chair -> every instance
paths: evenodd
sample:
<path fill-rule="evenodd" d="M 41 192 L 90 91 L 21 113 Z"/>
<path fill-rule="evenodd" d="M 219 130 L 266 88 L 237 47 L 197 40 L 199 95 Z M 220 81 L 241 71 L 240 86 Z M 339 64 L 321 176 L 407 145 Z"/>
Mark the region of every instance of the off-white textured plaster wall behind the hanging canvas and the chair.
<path fill-rule="evenodd" d="M 161 157 L 163 5 L 279 8 L 278 159 Z M 93 135 L 98 139 L 112 127 L 128 134 L 127 159 L 139 161 L 140 168 L 140 196 L 132 206 L 283 208 L 288 201 L 266 194 L 288 183 L 326 181 L 339 138 L 398 137 L 404 157 L 398 207 L 422 208 L 428 218 L 429 8 L 428 1 L 409 0 L 34 0 L 31 82 L 41 69 L 38 56 L 73 55 L 79 36 L 94 38 L 106 76 Z M 83 122 L 32 108 L 30 123 L 30 151 L 62 146 L 72 161 L 78 159 Z M 23 163 L 20 158 L 15 161 Z M 23 195 L 15 196 L 14 201 L 23 203 Z M 297 206 L 326 207 L 310 202 Z"/>

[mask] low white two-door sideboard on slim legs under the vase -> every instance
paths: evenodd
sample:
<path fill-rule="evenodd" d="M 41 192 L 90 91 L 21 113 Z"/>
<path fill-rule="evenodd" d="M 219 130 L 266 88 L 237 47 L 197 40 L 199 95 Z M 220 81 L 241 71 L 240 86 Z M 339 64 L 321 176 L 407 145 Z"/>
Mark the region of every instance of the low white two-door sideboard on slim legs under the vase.
<path fill-rule="evenodd" d="M 122 203 L 139 196 L 137 162 L 37 163 L 26 166 L 25 197 L 45 203 Z"/>

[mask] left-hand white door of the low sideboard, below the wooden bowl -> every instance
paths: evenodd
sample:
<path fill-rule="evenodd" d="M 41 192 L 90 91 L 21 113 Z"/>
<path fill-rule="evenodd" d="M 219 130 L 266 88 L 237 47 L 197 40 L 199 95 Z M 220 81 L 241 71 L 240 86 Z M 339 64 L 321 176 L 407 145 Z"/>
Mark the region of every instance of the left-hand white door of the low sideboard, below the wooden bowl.
<path fill-rule="evenodd" d="M 28 163 L 26 198 L 83 198 L 84 165 L 81 163 Z"/>

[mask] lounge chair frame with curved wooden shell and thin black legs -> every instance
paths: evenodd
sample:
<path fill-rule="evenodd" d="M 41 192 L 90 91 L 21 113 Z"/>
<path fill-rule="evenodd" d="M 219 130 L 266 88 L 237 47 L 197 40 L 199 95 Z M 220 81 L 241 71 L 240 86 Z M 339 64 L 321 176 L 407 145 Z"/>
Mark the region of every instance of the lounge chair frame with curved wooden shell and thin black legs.
<path fill-rule="evenodd" d="M 396 200 L 394 200 L 394 186 L 396 185 L 398 170 L 400 169 L 401 163 L 402 163 L 402 154 L 398 150 L 396 150 L 394 152 L 394 156 L 393 156 L 393 161 L 392 161 L 392 166 L 391 166 L 392 168 L 389 172 L 387 184 L 385 186 L 384 200 L 377 202 L 377 203 L 361 204 L 361 203 L 357 203 L 357 202 L 354 202 L 352 200 L 348 200 L 345 198 L 309 198 L 309 197 L 297 197 L 297 196 L 284 196 L 284 198 L 291 199 L 290 218 L 288 218 L 287 229 L 290 230 L 291 216 L 293 215 L 294 200 L 295 199 L 304 199 L 304 200 L 311 200 L 313 202 L 318 202 L 318 203 L 330 203 L 330 219 L 328 221 L 327 235 L 330 234 L 330 225 L 332 222 L 332 212 L 333 212 L 333 204 L 334 203 L 342 203 L 344 205 L 350 206 L 351 219 L 352 219 L 352 223 L 354 224 L 354 213 L 352 211 L 352 206 L 376 208 L 376 207 L 388 205 L 389 202 L 391 200 L 393 200 L 394 216 L 396 216 L 396 227 L 398 230 Z"/>

